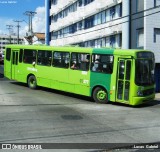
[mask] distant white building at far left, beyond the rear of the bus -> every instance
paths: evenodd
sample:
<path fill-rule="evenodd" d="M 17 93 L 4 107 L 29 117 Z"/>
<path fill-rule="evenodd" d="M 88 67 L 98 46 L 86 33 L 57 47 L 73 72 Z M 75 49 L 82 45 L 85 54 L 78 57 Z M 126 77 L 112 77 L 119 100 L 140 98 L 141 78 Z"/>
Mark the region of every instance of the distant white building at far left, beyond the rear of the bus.
<path fill-rule="evenodd" d="M 4 54 L 5 45 L 17 44 L 17 36 L 15 35 L 0 35 L 0 53 Z M 24 40 L 22 37 L 19 38 L 19 44 L 23 44 Z"/>

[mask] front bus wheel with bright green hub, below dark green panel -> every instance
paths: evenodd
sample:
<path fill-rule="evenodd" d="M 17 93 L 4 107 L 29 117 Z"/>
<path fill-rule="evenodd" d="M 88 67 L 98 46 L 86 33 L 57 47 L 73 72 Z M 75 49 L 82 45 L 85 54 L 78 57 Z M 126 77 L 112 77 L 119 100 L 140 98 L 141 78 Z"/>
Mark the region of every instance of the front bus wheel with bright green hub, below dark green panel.
<path fill-rule="evenodd" d="M 93 99 L 97 103 L 108 103 L 107 91 L 102 87 L 96 87 L 93 91 Z"/>

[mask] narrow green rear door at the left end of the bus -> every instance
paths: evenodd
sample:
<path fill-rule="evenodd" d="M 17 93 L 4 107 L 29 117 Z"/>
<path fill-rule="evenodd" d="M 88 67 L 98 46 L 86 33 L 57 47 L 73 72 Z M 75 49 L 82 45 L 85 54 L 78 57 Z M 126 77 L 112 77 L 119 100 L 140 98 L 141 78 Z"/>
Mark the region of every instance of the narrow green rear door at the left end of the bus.
<path fill-rule="evenodd" d="M 16 80 L 18 77 L 18 51 L 12 51 L 12 79 Z"/>

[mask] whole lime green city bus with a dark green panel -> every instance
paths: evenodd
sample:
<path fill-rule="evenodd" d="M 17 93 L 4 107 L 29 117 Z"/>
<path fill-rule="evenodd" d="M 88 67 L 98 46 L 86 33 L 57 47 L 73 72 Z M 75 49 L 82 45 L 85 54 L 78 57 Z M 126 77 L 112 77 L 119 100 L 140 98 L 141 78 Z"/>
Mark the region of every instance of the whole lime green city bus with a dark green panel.
<path fill-rule="evenodd" d="M 5 77 L 32 89 L 42 86 L 128 105 L 155 97 L 150 51 L 7 45 L 4 60 Z"/>

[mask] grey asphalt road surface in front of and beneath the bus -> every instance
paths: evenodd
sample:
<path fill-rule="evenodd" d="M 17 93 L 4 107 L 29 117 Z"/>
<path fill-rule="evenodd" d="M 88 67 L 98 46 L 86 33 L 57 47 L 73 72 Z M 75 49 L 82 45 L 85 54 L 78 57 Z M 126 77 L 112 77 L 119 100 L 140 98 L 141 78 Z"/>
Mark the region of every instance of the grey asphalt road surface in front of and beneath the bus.
<path fill-rule="evenodd" d="M 154 142 L 160 142 L 159 96 L 136 108 L 96 104 L 52 89 L 31 90 L 1 73 L 0 143 Z"/>

